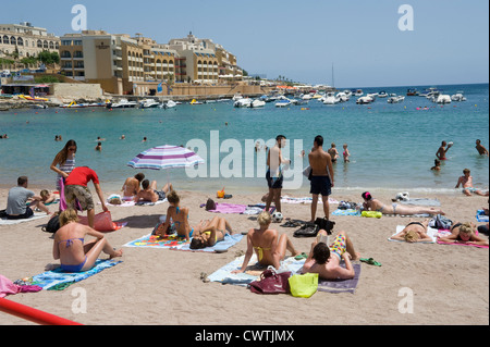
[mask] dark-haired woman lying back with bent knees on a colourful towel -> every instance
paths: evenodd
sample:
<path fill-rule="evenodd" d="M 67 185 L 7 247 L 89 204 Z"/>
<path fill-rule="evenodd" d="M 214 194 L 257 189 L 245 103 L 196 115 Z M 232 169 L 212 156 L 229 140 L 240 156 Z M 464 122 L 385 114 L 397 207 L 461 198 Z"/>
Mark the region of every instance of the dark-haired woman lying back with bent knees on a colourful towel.
<path fill-rule="evenodd" d="M 191 249 L 212 247 L 224 239 L 226 232 L 233 235 L 233 230 L 224 218 L 215 216 L 211 221 L 201 221 L 194 227 Z"/>

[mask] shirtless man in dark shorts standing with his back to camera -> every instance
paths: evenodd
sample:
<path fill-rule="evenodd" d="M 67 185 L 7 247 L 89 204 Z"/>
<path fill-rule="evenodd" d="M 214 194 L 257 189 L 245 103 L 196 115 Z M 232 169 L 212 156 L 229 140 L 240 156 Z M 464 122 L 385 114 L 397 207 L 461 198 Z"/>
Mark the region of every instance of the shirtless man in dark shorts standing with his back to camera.
<path fill-rule="evenodd" d="M 323 200 L 324 216 L 330 216 L 329 196 L 333 187 L 333 165 L 332 157 L 323 150 L 323 137 L 317 136 L 314 141 L 314 148 L 308 156 L 309 166 L 311 168 L 311 223 L 315 222 L 317 214 L 318 196 L 321 194 Z"/>

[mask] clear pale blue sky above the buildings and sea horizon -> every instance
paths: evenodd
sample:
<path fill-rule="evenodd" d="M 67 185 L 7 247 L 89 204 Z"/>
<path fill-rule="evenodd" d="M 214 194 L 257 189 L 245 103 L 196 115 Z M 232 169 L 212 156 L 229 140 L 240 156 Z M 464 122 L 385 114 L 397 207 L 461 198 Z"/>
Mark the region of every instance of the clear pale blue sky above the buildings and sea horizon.
<path fill-rule="evenodd" d="M 209 38 L 249 74 L 338 88 L 488 83 L 487 0 L 25 0 L 2 1 L 1 24 L 58 36 L 87 28 L 159 44 Z M 30 5 L 29 5 L 30 4 Z M 399 10 L 409 5 L 411 11 Z M 402 22 L 402 30 L 399 23 Z M 333 66 L 333 69 L 332 69 Z M 332 74 L 333 70 L 333 74 Z M 334 78 L 332 78 L 332 75 Z"/>

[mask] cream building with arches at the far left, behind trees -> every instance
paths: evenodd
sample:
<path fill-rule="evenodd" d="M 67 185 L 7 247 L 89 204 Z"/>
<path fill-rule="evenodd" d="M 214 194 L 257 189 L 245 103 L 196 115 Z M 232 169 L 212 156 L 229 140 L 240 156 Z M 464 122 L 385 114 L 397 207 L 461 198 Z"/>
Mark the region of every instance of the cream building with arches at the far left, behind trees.
<path fill-rule="evenodd" d="M 30 23 L 0 24 L 0 58 L 15 51 L 19 58 L 37 57 L 42 51 L 58 52 L 60 38 Z"/>

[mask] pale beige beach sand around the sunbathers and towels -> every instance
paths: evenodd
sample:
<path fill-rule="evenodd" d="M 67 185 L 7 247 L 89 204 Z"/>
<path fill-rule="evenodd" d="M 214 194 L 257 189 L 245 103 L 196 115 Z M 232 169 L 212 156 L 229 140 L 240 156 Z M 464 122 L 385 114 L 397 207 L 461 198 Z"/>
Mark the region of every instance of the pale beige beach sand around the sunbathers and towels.
<path fill-rule="evenodd" d="M 106 196 L 113 193 L 105 191 Z M 226 193 L 233 195 L 226 201 L 231 203 L 257 203 L 261 198 L 261 194 Z M 334 190 L 332 198 L 358 202 L 360 193 Z M 0 189 L 0 208 L 4 208 L 7 194 L 7 189 Z M 393 198 L 372 194 L 385 202 Z M 191 191 L 181 195 L 182 206 L 191 209 L 192 225 L 213 216 L 199 208 L 212 196 Z M 476 211 L 488 206 L 488 198 L 464 197 L 456 193 L 418 197 L 438 198 L 453 221 L 476 222 Z M 149 234 L 167 207 L 168 203 L 111 207 L 113 220 L 126 221 L 128 225 L 107 234 L 107 238 L 120 248 Z M 308 220 L 309 209 L 309 205 L 283 205 L 284 216 L 292 219 Z M 97 212 L 101 212 L 100 205 Z M 238 232 L 256 226 L 254 216 L 222 216 Z M 200 280 L 203 272 L 211 274 L 246 250 L 244 238 L 224 253 L 123 248 L 123 263 L 64 292 L 17 294 L 8 299 L 88 325 L 489 324 L 488 249 L 388 241 L 396 225 L 408 223 L 407 218 L 333 216 L 332 220 L 336 222 L 334 231 L 346 231 L 362 257 L 375 258 L 382 263 L 380 268 L 362 264 L 355 294 L 318 292 L 304 299 L 291 295 L 261 296 L 240 286 L 204 283 Z M 51 256 L 51 235 L 40 228 L 45 223 L 47 219 L 0 226 L 0 274 L 15 281 L 39 274 L 47 265 L 57 263 Z M 298 250 L 309 251 L 311 238 L 294 238 L 295 228 L 273 226 L 287 234 Z M 72 310 L 78 288 L 86 294 L 86 313 Z M 413 313 L 399 310 L 401 301 L 406 299 L 404 288 L 414 294 Z M 0 325 L 8 324 L 32 323 L 0 312 Z"/>

